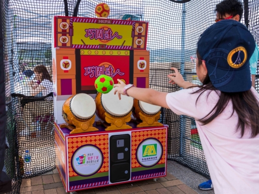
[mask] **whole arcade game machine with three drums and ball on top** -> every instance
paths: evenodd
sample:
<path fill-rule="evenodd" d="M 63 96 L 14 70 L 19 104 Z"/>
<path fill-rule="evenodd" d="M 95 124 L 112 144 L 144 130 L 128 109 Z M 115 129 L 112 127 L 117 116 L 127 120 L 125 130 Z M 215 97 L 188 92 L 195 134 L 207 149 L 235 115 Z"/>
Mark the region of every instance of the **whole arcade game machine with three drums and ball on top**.
<path fill-rule="evenodd" d="M 106 5 L 96 6 L 101 16 Z M 100 75 L 148 88 L 148 22 L 54 16 L 52 26 L 56 166 L 66 192 L 166 176 L 161 107 L 95 88 Z"/>

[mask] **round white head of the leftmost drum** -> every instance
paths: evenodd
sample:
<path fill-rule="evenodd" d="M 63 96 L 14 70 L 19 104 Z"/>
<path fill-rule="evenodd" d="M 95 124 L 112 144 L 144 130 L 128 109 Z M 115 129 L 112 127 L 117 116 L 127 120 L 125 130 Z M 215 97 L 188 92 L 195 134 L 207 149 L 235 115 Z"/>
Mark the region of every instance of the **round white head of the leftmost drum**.
<path fill-rule="evenodd" d="M 91 118 L 96 111 L 95 100 L 87 94 L 77 94 L 70 101 L 70 110 L 80 119 Z"/>

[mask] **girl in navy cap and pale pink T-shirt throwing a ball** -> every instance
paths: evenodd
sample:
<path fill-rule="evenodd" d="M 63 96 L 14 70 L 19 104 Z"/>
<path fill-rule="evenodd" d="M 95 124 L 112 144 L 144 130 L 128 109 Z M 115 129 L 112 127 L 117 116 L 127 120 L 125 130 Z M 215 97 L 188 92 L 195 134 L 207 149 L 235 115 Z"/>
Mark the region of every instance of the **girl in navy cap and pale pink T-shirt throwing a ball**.
<path fill-rule="evenodd" d="M 252 87 L 255 40 L 238 21 L 222 20 L 197 43 L 202 86 L 174 93 L 115 84 L 115 94 L 170 108 L 195 118 L 215 194 L 259 191 L 259 95 Z M 169 76 L 170 77 L 170 76 Z"/>

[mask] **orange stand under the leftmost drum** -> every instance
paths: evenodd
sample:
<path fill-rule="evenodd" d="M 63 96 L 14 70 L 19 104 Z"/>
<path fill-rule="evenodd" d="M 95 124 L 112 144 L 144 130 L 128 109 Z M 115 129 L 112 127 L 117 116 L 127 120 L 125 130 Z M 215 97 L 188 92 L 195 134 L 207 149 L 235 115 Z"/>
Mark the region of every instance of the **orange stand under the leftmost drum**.
<path fill-rule="evenodd" d="M 73 122 L 73 125 L 75 126 L 67 125 L 66 123 L 60 125 L 60 127 L 67 127 L 68 129 L 70 129 L 70 134 L 98 131 L 97 128 L 93 127 L 93 124 L 95 122 L 95 115 L 89 120 L 83 122 L 75 119 L 74 117 L 72 117 L 71 120 Z"/>

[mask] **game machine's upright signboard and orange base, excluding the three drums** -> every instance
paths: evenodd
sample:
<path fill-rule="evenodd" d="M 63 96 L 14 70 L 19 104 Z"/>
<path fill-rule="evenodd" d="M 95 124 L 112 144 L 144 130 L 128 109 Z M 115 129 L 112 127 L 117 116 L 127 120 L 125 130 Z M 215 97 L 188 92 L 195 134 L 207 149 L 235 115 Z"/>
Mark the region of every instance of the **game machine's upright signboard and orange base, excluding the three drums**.
<path fill-rule="evenodd" d="M 54 16 L 52 62 L 56 163 L 67 192 L 166 176 L 167 126 L 70 134 L 60 127 L 72 95 L 96 97 L 102 74 L 149 87 L 148 22 Z"/>

